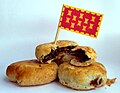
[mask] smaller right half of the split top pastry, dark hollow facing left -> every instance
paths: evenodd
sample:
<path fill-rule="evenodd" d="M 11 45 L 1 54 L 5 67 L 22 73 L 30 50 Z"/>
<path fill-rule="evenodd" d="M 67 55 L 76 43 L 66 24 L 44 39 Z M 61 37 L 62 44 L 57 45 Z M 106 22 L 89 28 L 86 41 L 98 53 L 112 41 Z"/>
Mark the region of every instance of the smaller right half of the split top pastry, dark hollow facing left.
<path fill-rule="evenodd" d="M 71 50 L 70 64 L 75 66 L 88 66 L 96 60 L 95 50 L 89 46 L 77 46 Z"/>

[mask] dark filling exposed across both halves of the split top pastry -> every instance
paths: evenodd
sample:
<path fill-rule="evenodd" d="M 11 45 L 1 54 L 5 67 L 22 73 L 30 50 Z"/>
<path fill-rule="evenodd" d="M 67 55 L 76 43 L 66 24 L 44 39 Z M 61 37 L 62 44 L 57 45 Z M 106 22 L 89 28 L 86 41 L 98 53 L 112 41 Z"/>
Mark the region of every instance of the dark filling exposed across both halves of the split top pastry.
<path fill-rule="evenodd" d="M 67 46 L 67 47 L 61 47 L 57 48 L 56 50 L 51 50 L 50 54 L 46 55 L 42 62 L 46 63 L 48 60 L 55 59 L 57 56 L 64 56 L 64 54 L 70 54 L 72 56 L 75 56 L 75 58 L 83 63 L 90 58 L 85 54 L 85 51 L 82 49 L 77 49 L 75 51 L 72 51 L 73 48 L 76 46 Z"/>

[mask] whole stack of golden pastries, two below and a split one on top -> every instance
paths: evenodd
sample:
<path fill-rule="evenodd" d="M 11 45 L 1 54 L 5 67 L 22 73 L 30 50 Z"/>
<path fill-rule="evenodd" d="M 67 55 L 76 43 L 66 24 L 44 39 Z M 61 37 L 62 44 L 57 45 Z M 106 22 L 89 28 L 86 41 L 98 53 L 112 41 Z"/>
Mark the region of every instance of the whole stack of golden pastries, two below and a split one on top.
<path fill-rule="evenodd" d="M 54 81 L 76 90 L 91 90 L 107 82 L 107 71 L 96 62 L 96 52 L 70 40 L 38 45 L 37 59 L 15 62 L 7 67 L 10 81 L 20 86 L 42 85 Z"/>

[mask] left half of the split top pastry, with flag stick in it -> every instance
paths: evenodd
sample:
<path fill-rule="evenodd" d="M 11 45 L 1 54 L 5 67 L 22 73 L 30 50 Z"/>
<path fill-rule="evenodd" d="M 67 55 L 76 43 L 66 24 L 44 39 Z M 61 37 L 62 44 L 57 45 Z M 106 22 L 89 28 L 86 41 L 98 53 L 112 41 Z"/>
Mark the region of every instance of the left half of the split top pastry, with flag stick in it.
<path fill-rule="evenodd" d="M 76 46 L 78 46 L 78 44 L 74 41 L 58 40 L 56 44 L 51 42 L 38 45 L 35 50 L 35 55 L 41 63 L 50 63 L 53 60 L 61 59 L 64 54 Z"/>

